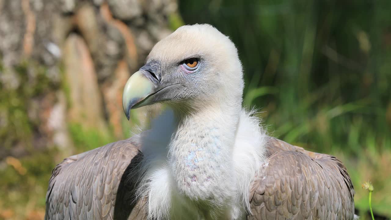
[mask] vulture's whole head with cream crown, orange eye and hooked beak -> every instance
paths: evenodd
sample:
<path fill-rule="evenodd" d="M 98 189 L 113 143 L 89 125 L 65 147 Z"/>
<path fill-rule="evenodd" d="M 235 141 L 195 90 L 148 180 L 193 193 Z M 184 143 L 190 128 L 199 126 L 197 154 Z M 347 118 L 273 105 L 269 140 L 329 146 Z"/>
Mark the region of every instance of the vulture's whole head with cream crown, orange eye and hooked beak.
<path fill-rule="evenodd" d="M 129 78 L 123 108 L 128 120 L 130 109 L 158 102 L 190 111 L 221 102 L 239 109 L 243 84 L 230 39 L 211 25 L 187 25 L 159 41 Z"/>

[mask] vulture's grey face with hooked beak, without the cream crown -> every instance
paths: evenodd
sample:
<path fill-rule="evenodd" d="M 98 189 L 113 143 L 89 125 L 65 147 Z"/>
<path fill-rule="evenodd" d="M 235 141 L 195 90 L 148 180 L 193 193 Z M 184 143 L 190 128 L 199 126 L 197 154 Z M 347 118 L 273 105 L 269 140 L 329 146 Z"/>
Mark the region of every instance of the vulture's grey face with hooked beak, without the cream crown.
<path fill-rule="evenodd" d="M 187 59 L 197 60 L 197 66 L 189 68 Z M 207 56 L 194 54 L 183 60 L 149 61 L 125 85 L 122 105 L 127 119 L 133 108 L 162 101 L 181 106 L 192 103 L 187 107 L 197 108 L 199 103 L 214 97 L 221 81 L 207 60 Z"/>

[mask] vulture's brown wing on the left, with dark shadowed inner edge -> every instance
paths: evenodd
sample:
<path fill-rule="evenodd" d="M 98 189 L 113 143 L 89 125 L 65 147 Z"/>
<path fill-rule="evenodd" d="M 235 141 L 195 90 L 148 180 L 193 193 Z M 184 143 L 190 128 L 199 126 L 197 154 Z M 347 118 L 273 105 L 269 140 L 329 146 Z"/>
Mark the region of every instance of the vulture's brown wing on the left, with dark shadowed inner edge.
<path fill-rule="evenodd" d="M 146 219 L 127 178 L 141 159 L 131 139 L 66 158 L 52 172 L 45 219 Z"/>

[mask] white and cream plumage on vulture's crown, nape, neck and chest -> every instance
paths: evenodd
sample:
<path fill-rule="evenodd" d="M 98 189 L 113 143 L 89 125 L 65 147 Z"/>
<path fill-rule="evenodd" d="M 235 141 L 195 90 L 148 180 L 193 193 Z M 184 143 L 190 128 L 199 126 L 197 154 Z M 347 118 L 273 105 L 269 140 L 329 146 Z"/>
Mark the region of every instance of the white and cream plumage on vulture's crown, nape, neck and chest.
<path fill-rule="evenodd" d="M 237 219 L 249 207 L 250 182 L 264 161 L 265 133 L 241 107 L 242 66 L 235 46 L 210 25 L 184 26 L 160 41 L 147 62 L 195 54 L 208 54 L 203 56 L 210 72 L 202 89 L 213 94 L 195 97 L 185 108 L 171 105 L 140 136 L 147 170 L 140 197 L 148 193 L 150 218 L 193 213 L 195 219 Z"/>

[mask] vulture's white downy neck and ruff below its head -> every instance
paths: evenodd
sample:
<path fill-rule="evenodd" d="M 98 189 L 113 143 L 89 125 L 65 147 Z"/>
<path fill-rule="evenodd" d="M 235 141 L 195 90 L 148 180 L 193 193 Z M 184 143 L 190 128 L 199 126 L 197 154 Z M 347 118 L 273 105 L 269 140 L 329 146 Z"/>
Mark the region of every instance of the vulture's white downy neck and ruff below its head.
<path fill-rule="evenodd" d="M 198 111 L 169 108 L 140 135 L 146 174 L 138 195 L 148 198 L 149 218 L 245 216 L 249 183 L 263 162 L 264 133 L 240 104 L 233 106 L 216 104 Z M 241 138 L 253 139 L 247 153 L 235 148 Z M 246 148 L 246 143 L 242 146 Z"/>

